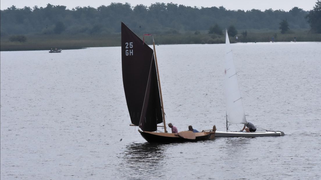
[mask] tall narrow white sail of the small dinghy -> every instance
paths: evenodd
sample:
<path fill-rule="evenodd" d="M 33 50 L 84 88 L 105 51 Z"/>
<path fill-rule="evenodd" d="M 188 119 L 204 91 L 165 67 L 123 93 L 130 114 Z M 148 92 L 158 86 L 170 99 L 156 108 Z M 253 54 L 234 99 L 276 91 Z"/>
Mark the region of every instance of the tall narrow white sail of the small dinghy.
<path fill-rule="evenodd" d="M 227 30 L 225 45 L 225 104 L 227 121 L 231 124 L 246 123 Z"/>

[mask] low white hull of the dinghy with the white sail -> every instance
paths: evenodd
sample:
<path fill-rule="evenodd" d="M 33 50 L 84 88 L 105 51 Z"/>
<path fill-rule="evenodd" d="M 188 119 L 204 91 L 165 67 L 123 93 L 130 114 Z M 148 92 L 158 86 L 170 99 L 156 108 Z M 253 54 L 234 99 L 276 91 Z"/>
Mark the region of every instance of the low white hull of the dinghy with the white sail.
<path fill-rule="evenodd" d="M 263 132 L 225 132 L 225 131 L 216 131 L 216 137 L 264 137 L 264 136 L 283 136 L 282 131 L 263 131 Z"/>

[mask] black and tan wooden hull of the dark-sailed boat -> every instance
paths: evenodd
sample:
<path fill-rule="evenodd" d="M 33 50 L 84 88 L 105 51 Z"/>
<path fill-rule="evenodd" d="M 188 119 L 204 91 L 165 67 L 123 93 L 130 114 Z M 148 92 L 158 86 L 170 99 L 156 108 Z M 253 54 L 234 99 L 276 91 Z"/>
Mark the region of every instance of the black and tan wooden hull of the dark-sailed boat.
<path fill-rule="evenodd" d="M 195 139 L 187 139 L 175 135 L 174 133 L 156 133 L 149 131 L 139 131 L 148 143 L 184 143 L 211 140 L 215 137 L 215 131 L 194 133 Z"/>

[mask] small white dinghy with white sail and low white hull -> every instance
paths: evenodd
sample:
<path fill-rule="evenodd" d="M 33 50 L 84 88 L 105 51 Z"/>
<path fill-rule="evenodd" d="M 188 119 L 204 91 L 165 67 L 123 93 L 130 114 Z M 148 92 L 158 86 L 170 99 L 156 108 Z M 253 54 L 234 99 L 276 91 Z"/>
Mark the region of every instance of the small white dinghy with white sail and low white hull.
<path fill-rule="evenodd" d="M 282 131 L 230 132 L 228 124 L 247 124 L 243 102 L 239 91 L 237 74 L 234 67 L 232 49 L 226 30 L 225 40 L 225 105 L 226 105 L 226 132 L 216 131 L 216 137 L 259 137 L 281 136 Z"/>

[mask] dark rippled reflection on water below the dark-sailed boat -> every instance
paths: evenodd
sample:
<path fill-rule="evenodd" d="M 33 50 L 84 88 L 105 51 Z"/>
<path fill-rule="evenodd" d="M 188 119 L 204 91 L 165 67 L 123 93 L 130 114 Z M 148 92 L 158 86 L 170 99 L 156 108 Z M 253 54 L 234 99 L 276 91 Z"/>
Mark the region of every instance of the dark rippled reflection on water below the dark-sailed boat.
<path fill-rule="evenodd" d="M 134 143 L 126 146 L 123 160 L 130 176 L 137 178 L 137 172 L 142 178 L 157 177 L 157 171 L 162 169 L 165 159 L 165 147 L 161 144 Z M 128 176 L 127 176 L 128 177 Z"/>

